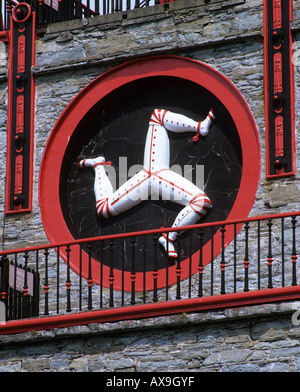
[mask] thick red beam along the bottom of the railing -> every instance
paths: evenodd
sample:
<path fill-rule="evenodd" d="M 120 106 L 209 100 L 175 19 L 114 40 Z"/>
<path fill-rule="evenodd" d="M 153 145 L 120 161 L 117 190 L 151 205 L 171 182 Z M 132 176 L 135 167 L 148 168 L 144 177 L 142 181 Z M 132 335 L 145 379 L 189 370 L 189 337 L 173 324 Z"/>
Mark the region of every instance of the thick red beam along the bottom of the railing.
<path fill-rule="evenodd" d="M 213 297 L 193 298 L 147 305 L 136 305 L 115 309 L 65 314 L 0 323 L 0 335 L 28 331 L 67 328 L 92 323 L 107 323 L 121 320 L 134 320 L 159 317 L 183 312 L 200 312 L 224 308 L 259 305 L 264 303 L 293 301 L 300 298 L 300 286 L 266 289 L 240 294 L 224 294 Z"/>

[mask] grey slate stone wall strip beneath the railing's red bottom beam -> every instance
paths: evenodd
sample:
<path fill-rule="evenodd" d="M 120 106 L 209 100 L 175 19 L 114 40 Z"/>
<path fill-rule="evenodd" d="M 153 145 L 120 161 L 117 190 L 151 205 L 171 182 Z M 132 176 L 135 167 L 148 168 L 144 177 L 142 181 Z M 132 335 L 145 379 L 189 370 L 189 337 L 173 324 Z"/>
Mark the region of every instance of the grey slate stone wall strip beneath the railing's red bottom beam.
<path fill-rule="evenodd" d="M 108 372 L 298 372 L 294 312 L 267 305 L 0 336 L 0 372 L 104 372 L 104 385 Z"/>

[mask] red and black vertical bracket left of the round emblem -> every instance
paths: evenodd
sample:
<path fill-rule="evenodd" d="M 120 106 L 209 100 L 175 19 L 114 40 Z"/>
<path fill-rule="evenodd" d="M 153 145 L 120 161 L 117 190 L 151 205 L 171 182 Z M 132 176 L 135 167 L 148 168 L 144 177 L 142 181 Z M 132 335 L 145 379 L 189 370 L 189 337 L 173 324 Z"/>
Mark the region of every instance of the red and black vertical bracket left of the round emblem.
<path fill-rule="evenodd" d="M 6 214 L 32 210 L 35 13 L 14 7 L 9 34 Z"/>

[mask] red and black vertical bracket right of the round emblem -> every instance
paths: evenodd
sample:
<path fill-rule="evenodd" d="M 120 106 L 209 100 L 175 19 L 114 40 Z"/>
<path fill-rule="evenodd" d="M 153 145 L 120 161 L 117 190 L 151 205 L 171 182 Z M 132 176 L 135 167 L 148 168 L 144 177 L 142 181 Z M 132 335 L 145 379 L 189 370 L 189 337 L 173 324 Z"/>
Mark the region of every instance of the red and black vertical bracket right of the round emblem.
<path fill-rule="evenodd" d="M 266 176 L 294 175 L 292 0 L 264 0 Z"/>

